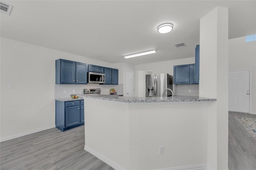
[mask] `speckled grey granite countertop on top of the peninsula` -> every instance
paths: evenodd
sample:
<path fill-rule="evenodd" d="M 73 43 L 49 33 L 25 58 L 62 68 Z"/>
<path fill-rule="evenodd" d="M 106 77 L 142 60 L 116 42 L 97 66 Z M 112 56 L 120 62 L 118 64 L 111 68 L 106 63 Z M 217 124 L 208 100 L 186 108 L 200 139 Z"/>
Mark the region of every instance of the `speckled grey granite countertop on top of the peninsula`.
<path fill-rule="evenodd" d="M 83 98 L 92 98 L 100 100 L 110 100 L 124 103 L 144 103 L 144 102 L 214 102 L 216 99 L 202 98 L 198 96 L 174 96 L 172 97 L 123 97 L 101 94 L 82 94 Z"/>

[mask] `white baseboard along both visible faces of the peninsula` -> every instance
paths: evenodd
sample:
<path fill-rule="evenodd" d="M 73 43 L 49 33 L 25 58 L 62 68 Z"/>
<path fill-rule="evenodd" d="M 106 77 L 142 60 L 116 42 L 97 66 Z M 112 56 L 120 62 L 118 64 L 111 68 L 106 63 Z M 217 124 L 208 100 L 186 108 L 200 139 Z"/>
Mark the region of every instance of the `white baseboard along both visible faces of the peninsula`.
<path fill-rule="evenodd" d="M 116 162 L 113 162 L 109 158 L 106 158 L 106 156 L 96 152 L 92 148 L 84 145 L 84 150 L 91 153 L 92 155 L 96 156 L 115 170 L 126 170 L 124 167 L 120 166 Z M 162 169 L 155 169 L 155 170 L 207 170 L 206 164 L 200 164 L 200 165 L 191 165 L 191 166 L 180 166 L 180 167 L 174 167 L 174 168 L 162 168 Z"/>

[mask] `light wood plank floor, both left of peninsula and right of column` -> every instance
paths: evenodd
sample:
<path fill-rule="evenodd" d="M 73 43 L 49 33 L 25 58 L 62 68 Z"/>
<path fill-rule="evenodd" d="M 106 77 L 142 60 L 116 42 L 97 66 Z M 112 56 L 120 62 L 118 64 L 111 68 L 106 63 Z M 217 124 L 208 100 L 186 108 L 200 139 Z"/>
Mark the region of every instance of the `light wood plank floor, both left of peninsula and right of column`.
<path fill-rule="evenodd" d="M 229 113 L 228 169 L 256 170 L 256 140 Z M 48 129 L 0 143 L 1 170 L 114 170 L 84 150 L 84 126 Z"/>

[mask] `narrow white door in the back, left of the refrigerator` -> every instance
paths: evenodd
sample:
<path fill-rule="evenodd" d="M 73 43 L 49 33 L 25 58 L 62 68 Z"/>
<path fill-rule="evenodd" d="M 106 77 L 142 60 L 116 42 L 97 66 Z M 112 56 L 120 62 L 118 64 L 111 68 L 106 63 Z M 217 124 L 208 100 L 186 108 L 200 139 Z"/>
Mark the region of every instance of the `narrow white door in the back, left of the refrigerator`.
<path fill-rule="evenodd" d="M 126 70 L 126 92 L 124 96 L 134 97 L 134 71 Z"/>

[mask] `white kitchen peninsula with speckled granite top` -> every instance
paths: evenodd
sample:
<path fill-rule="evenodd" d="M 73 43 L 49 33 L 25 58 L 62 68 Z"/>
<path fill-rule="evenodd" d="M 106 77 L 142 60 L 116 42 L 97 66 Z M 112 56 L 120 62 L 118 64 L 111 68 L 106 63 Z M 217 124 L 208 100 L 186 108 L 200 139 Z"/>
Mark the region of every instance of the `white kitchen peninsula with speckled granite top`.
<path fill-rule="evenodd" d="M 206 113 L 216 99 L 81 96 L 84 149 L 116 170 L 206 168 Z"/>

